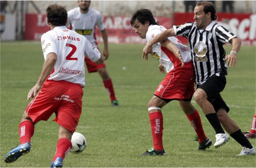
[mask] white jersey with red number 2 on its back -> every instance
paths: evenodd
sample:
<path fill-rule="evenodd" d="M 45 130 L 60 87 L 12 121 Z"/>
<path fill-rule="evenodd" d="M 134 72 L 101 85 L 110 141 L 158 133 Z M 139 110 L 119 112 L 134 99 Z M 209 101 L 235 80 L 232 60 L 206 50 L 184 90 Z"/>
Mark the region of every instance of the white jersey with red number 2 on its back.
<path fill-rule="evenodd" d="M 85 54 L 96 62 L 101 58 L 97 48 L 82 35 L 67 29 L 66 26 L 57 26 L 44 33 L 41 37 L 44 58 L 54 52 L 57 61 L 54 70 L 47 80 L 65 80 L 74 84 L 85 86 Z"/>

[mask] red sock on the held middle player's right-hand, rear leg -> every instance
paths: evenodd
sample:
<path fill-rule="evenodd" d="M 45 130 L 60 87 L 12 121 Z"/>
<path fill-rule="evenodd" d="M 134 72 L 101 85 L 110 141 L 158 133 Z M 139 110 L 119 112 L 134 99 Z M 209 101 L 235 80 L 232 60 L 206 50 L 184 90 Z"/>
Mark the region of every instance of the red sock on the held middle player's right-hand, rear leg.
<path fill-rule="evenodd" d="M 190 124 L 195 129 L 196 135 L 198 137 L 199 142 L 203 142 L 206 138 L 206 135 L 204 134 L 203 128 L 202 128 L 202 122 L 200 119 L 200 115 L 197 110 L 195 110 L 194 113 L 187 115 Z"/>

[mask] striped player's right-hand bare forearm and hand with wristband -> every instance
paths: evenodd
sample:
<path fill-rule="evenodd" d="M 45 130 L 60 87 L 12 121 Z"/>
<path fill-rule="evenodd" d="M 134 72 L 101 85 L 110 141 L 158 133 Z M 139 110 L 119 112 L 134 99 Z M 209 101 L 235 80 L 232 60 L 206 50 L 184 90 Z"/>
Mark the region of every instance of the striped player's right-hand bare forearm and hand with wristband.
<path fill-rule="evenodd" d="M 227 61 L 229 67 L 235 67 L 235 65 L 237 66 L 236 54 L 239 52 L 242 43 L 237 37 L 230 39 L 230 42 L 232 43 L 232 49 L 231 52 L 226 55 L 224 61 Z"/>

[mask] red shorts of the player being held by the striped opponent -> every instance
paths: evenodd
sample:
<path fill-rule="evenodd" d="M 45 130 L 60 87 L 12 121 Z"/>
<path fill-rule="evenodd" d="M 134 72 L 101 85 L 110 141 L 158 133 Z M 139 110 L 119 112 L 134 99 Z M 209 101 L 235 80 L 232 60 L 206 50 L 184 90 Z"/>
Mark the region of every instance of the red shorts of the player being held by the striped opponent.
<path fill-rule="evenodd" d="M 166 75 L 154 95 L 162 99 L 191 100 L 195 92 L 195 73 L 192 61 Z"/>

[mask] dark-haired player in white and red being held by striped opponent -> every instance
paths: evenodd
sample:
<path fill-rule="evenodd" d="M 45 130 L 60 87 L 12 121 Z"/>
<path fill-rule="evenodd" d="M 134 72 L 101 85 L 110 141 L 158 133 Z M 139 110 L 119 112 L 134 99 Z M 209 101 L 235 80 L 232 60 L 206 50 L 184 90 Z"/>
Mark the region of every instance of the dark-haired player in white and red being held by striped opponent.
<path fill-rule="evenodd" d="M 166 30 L 159 26 L 153 14 L 148 9 L 136 11 L 130 21 L 135 32 L 148 41 L 155 35 Z M 191 98 L 195 91 L 194 68 L 190 52 L 187 46 L 175 37 L 166 39 L 161 44 L 153 46 L 153 57 L 160 61 L 160 71 L 167 72 L 166 77 L 155 90 L 154 96 L 148 103 L 148 113 L 153 137 L 153 148 L 142 155 L 165 155 L 162 143 L 163 116 L 162 107 L 172 100 L 178 100 L 181 109 L 189 119 L 199 137 L 199 150 L 205 150 L 212 144 L 206 137 L 198 111 L 191 104 Z M 145 58 L 146 60 L 148 58 Z M 182 62 L 181 62 L 182 60 Z"/>

